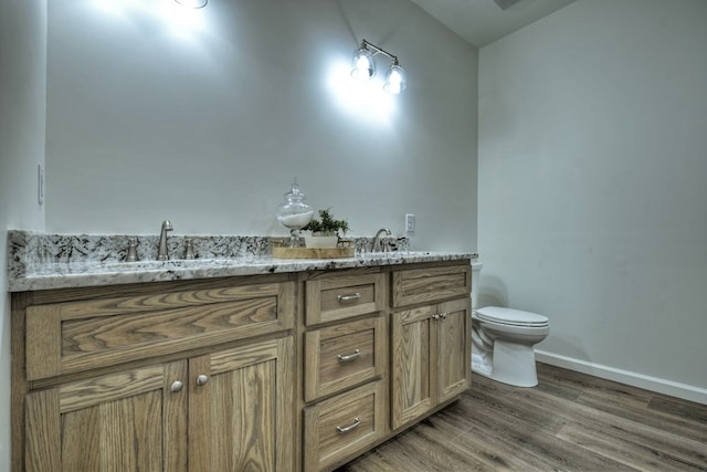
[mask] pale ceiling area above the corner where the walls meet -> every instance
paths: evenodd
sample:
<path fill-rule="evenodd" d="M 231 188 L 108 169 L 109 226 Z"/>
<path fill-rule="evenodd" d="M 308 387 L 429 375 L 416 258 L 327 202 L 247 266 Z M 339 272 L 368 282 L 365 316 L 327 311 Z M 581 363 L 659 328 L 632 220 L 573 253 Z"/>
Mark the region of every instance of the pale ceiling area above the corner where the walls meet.
<path fill-rule="evenodd" d="M 476 48 L 510 34 L 574 0 L 412 0 Z"/>

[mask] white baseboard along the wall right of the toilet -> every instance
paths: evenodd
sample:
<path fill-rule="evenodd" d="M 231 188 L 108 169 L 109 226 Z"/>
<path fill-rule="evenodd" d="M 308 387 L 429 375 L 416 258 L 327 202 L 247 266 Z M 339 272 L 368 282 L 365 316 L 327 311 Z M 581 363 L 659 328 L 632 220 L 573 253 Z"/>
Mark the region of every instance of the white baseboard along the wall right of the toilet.
<path fill-rule="evenodd" d="M 545 350 L 535 350 L 536 360 L 551 366 L 563 367 L 569 370 L 601 377 L 608 380 L 644 388 L 646 390 L 669 395 L 684 400 L 707 405 L 707 389 L 687 384 L 678 384 L 657 377 L 645 376 L 629 370 L 616 369 L 600 364 L 588 363 L 572 357 L 560 356 Z"/>

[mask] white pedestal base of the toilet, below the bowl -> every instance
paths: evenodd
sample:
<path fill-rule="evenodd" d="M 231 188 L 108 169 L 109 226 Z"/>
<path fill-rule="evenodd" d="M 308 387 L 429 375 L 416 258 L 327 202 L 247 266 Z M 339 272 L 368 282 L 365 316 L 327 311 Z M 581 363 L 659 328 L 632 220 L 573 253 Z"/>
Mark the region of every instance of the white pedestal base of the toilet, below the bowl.
<path fill-rule="evenodd" d="M 490 374 L 478 369 L 478 374 L 516 387 L 535 387 L 538 374 L 535 367 L 532 345 L 494 340 L 493 367 Z"/>

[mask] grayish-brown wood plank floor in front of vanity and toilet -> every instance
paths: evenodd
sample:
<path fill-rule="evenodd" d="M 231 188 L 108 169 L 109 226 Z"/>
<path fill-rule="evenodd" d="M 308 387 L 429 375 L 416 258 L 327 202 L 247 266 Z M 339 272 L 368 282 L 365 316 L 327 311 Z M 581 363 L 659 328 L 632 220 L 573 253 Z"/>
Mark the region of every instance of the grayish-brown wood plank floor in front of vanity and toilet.
<path fill-rule="evenodd" d="M 338 471 L 707 471 L 707 406 L 545 364 L 538 377 L 474 375 L 460 401 Z"/>

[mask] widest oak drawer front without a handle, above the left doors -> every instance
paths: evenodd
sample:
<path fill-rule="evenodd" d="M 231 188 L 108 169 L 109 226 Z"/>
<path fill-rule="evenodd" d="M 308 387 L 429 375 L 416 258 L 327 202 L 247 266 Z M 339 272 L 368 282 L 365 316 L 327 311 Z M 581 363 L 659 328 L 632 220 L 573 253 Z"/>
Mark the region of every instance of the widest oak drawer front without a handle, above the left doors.
<path fill-rule="evenodd" d="M 293 281 L 222 284 L 62 302 L 27 308 L 27 378 L 169 355 L 289 329 Z M 113 296 L 110 296 L 113 295 Z"/>

